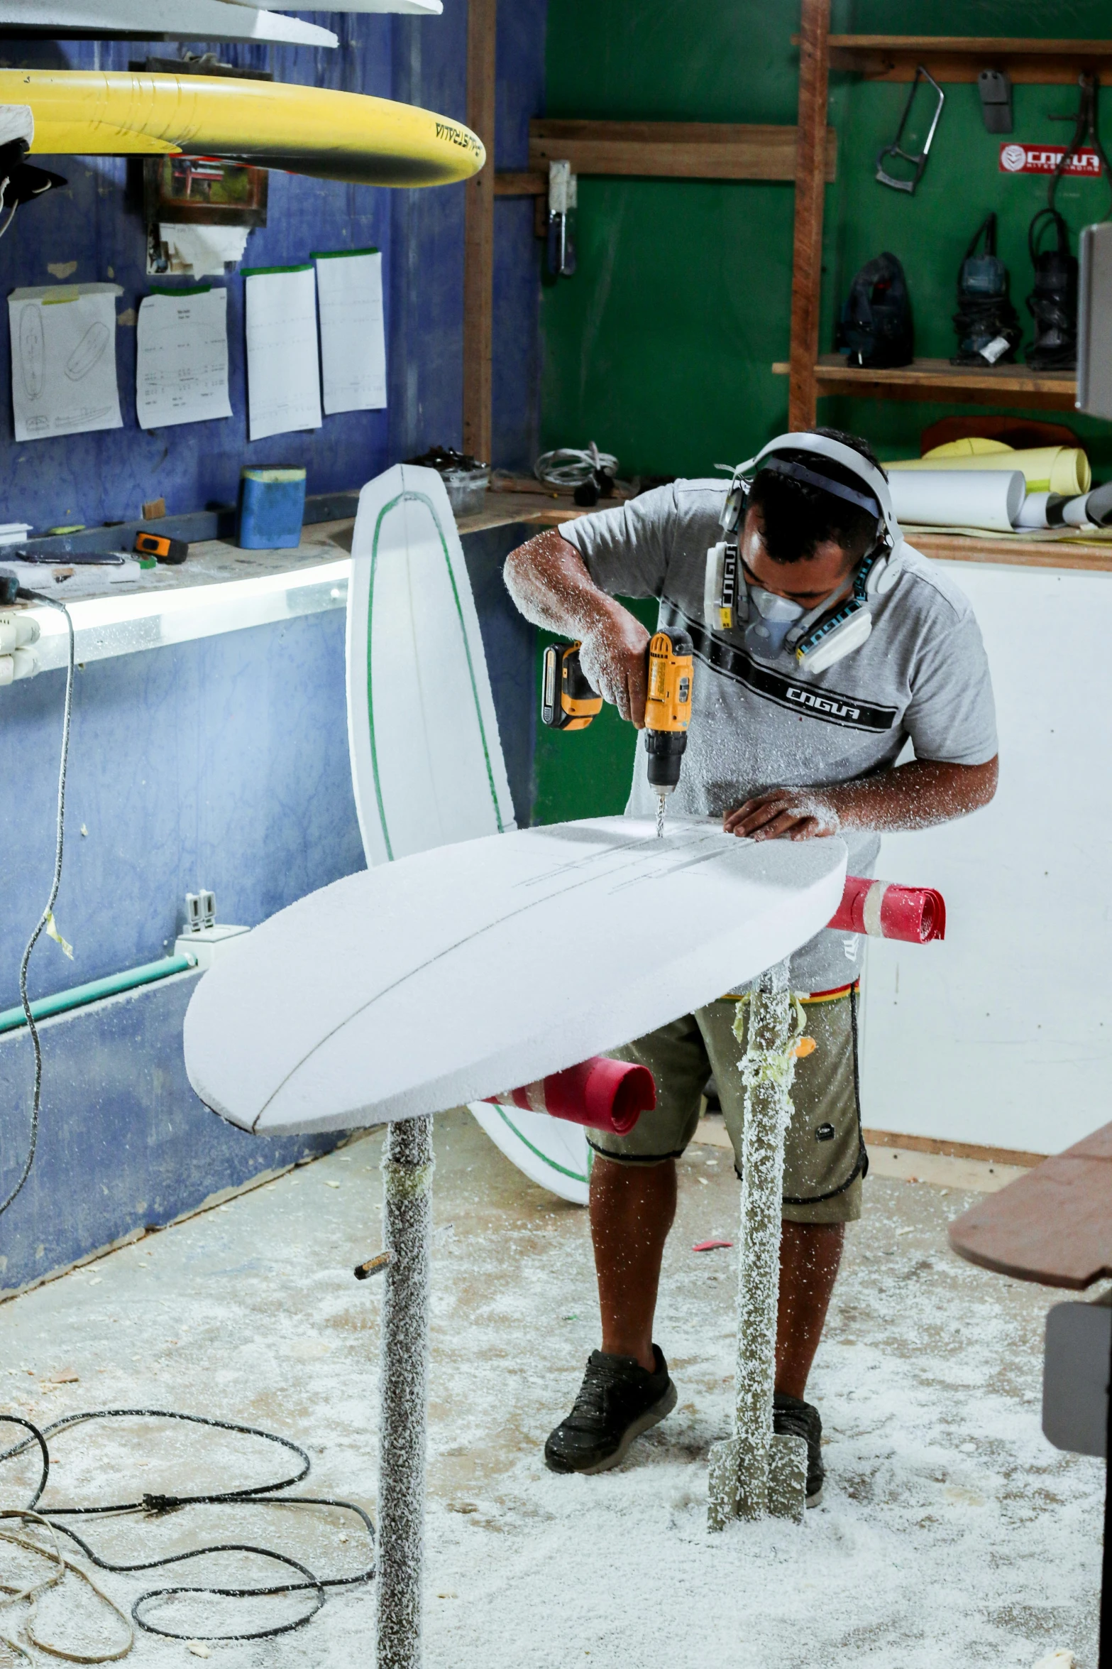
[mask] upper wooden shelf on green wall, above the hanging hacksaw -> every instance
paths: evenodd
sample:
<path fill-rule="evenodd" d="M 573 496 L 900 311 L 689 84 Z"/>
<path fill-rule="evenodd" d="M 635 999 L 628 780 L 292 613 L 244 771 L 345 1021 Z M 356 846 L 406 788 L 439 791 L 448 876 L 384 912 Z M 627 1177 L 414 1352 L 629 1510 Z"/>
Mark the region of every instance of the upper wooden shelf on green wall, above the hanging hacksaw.
<path fill-rule="evenodd" d="M 910 82 L 924 63 L 937 82 L 975 82 L 1007 70 L 1014 82 L 1075 82 L 1112 63 L 1112 40 L 1030 40 L 1000 35 L 830 35 L 830 68 L 867 80 Z"/>

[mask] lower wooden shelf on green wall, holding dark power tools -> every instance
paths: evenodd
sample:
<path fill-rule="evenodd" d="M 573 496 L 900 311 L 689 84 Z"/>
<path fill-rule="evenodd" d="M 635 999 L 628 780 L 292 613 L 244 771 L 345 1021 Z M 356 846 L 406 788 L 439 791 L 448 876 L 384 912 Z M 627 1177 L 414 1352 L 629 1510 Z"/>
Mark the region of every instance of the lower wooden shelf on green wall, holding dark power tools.
<path fill-rule="evenodd" d="M 787 372 L 787 364 L 774 371 Z M 1074 411 L 1077 376 L 1072 371 L 1032 371 L 1029 366 L 952 366 L 949 359 L 915 359 L 892 371 L 849 366 L 842 354 L 820 354 L 815 392 L 850 394 L 867 401 L 942 401 L 974 406 L 1027 406 Z"/>

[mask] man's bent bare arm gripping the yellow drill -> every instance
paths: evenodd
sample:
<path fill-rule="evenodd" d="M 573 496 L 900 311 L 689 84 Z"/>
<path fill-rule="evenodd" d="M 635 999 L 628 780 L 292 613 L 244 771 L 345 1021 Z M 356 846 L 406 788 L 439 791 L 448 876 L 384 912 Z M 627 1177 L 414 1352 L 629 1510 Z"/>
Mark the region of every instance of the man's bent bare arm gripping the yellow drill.
<path fill-rule="evenodd" d="M 580 663 L 590 684 L 624 719 L 642 729 L 649 633 L 629 609 L 599 589 L 575 546 L 555 527 L 540 532 L 510 551 L 503 576 L 527 621 L 580 641 Z"/>

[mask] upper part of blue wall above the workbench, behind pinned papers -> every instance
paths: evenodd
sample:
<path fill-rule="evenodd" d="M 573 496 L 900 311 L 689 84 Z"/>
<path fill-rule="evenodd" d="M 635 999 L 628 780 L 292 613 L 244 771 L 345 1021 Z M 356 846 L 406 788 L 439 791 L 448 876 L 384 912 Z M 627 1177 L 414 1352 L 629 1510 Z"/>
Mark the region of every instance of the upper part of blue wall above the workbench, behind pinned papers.
<path fill-rule="evenodd" d="M 540 112 L 545 0 L 503 7 L 498 28 L 498 167 L 525 167 L 528 118 Z M 310 13 L 340 37 L 335 52 L 295 47 L 215 47 L 228 63 L 268 68 L 277 80 L 367 92 L 465 115 L 465 0 L 445 0 L 440 18 Z M 0 62 L 42 68 L 127 68 L 172 43 L 20 42 L 0 35 Z M 188 50 L 202 52 L 203 43 Z M 143 432 L 135 422 L 135 329 L 148 292 L 138 165 L 122 159 L 43 159 L 65 174 L 65 192 L 17 217 L 0 240 L 0 294 L 52 284 L 50 265 L 75 262 L 72 282 L 115 280 L 117 369 L 123 429 L 17 446 L 10 399 L 0 401 L 0 519 L 37 529 L 140 514 L 165 497 L 172 512 L 232 502 L 242 464 L 305 464 L 308 491 L 357 487 L 387 464 L 433 442 L 462 439 L 463 189 L 422 192 L 340 185 L 272 174 L 268 224 L 248 239 L 248 265 L 305 260 L 313 249 L 383 250 L 388 275 L 390 407 L 325 417 L 317 431 L 247 441 L 243 279 L 230 274 L 232 409 L 227 421 Z M 532 205 L 497 209 L 495 462 L 535 456 L 538 245 Z M 162 282 L 162 280 L 160 280 Z M 175 282 L 175 280 L 170 280 Z M 185 280 L 180 280 L 185 282 Z M 215 280 L 220 282 L 220 280 Z M 0 386 L 10 376 L 7 307 L 0 309 Z"/>

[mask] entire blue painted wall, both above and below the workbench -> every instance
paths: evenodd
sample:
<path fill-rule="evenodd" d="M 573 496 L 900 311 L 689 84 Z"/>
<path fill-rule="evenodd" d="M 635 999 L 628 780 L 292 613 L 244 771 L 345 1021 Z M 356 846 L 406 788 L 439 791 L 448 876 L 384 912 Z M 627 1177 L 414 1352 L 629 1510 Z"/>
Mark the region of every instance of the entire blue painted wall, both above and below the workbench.
<path fill-rule="evenodd" d="M 465 0 L 442 18 L 315 13 L 338 52 L 222 47 L 278 80 L 397 97 L 462 118 Z M 518 0 L 498 22 L 498 167 L 527 164 L 540 110 L 545 0 Z M 122 68 L 167 45 L 27 43 L 0 38 L 0 62 Z M 200 48 L 198 48 L 200 50 Z M 138 200 L 127 167 L 65 159 L 70 189 L 20 214 L 0 240 L 0 290 L 115 279 L 118 314 L 148 282 Z M 247 260 L 277 265 L 322 247 L 383 250 L 390 409 L 328 417 L 312 434 L 250 446 L 245 437 L 243 282 L 228 277 L 232 406 L 225 422 L 143 434 L 135 424 L 135 329 L 117 330 L 123 429 L 15 446 L 0 401 L 0 519 L 42 529 L 132 517 L 163 496 L 170 512 L 228 502 L 243 462 L 308 467 L 313 492 L 360 486 L 432 442 L 462 441 L 463 190 L 385 192 L 272 175 L 270 224 Z M 527 466 L 537 434 L 538 245 L 532 204 L 500 202 L 495 222 L 495 454 Z M 10 349 L 0 309 L 0 382 Z M 533 644 L 502 586 L 505 554 L 527 529 L 463 541 L 518 821 L 533 793 Z M 62 673 L 0 693 L 0 1008 L 18 1000 L 18 961 L 50 886 Z M 82 833 L 82 826 L 85 833 Z M 210 886 L 222 921 L 248 926 L 363 866 L 352 799 L 343 689 L 343 613 L 90 663 L 75 684 L 67 850 L 55 915 L 68 961 L 40 940 L 32 996 L 58 991 L 172 948 L 187 890 Z M 43 1117 L 25 1193 L 0 1218 L 0 1292 L 215 1190 L 330 1145 L 260 1143 L 193 1097 L 182 1066 L 182 1015 L 193 980 L 60 1016 L 43 1028 Z M 30 1110 L 30 1046 L 0 1040 L 0 1197 L 18 1175 Z"/>

